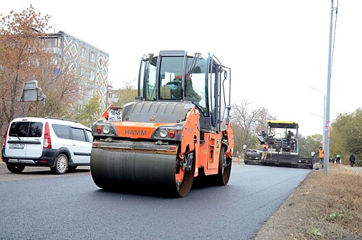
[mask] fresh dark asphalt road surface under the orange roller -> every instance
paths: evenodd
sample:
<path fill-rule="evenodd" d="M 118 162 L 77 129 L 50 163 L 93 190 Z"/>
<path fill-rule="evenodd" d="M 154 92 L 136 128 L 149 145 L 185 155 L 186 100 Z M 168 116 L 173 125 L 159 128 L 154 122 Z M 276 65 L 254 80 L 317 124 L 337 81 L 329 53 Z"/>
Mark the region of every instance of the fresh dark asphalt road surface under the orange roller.
<path fill-rule="evenodd" d="M 84 173 L 3 181 L 0 239 L 252 239 L 309 171 L 233 164 L 228 186 L 176 199 L 103 191 Z"/>

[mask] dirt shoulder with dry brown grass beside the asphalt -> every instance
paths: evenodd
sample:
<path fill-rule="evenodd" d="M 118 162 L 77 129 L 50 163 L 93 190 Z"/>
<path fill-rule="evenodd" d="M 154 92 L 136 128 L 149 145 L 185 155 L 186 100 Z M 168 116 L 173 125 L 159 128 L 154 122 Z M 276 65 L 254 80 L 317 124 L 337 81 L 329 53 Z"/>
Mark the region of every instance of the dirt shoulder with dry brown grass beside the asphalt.
<path fill-rule="evenodd" d="M 311 171 L 255 239 L 362 239 L 362 168 L 348 168 Z"/>

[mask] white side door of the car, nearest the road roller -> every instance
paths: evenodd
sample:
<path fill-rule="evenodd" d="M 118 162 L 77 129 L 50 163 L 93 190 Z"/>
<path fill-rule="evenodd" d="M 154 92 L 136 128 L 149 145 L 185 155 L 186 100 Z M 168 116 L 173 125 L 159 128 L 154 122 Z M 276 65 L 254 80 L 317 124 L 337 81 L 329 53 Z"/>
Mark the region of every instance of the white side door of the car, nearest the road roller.
<path fill-rule="evenodd" d="M 77 164 L 90 164 L 91 143 L 87 141 L 83 128 L 71 127 L 73 142 L 73 162 Z"/>

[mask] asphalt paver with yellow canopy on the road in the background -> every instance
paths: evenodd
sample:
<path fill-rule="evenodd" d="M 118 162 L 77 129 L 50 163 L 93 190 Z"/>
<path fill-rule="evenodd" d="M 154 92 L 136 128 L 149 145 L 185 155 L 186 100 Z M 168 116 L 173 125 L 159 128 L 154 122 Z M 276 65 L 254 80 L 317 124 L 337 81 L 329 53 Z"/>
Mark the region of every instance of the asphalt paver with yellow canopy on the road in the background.
<path fill-rule="evenodd" d="M 299 154 L 297 121 L 267 121 L 267 130 L 258 135 L 261 145 L 269 146 L 267 158 L 261 159 L 261 152 L 245 151 L 245 164 L 270 165 L 281 167 L 313 168 L 312 157 Z"/>

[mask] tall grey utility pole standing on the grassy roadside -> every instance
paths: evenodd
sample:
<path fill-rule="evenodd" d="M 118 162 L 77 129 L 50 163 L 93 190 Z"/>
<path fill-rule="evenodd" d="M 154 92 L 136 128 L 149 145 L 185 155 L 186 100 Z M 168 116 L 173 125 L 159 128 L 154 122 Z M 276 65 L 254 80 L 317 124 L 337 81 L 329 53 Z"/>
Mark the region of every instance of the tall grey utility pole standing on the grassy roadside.
<path fill-rule="evenodd" d="M 330 129 L 330 77 L 332 73 L 332 32 L 333 32 L 333 0 L 330 1 L 330 26 L 329 26 L 329 50 L 328 50 L 328 77 L 326 95 L 326 122 L 324 123 L 324 175 L 329 173 L 329 129 Z"/>

